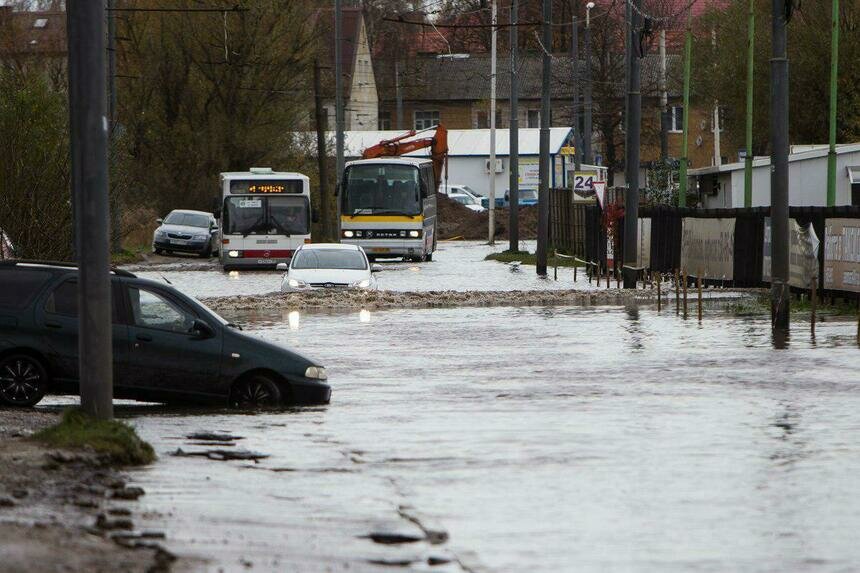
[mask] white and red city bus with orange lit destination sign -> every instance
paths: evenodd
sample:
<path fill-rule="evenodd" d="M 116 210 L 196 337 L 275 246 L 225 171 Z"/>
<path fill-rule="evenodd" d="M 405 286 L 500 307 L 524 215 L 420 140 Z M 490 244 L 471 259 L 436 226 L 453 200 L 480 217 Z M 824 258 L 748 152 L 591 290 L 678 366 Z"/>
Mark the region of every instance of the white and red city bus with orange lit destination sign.
<path fill-rule="evenodd" d="M 221 265 L 275 268 L 311 242 L 310 180 L 252 167 L 221 174 Z"/>

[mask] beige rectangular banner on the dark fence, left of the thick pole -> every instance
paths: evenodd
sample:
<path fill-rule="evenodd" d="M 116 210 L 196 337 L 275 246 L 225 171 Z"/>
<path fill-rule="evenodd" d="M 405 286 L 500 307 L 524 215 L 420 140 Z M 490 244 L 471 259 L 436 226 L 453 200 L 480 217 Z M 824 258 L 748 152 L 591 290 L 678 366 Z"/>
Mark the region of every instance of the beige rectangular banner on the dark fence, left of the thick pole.
<path fill-rule="evenodd" d="M 732 280 L 735 265 L 735 220 L 681 221 L 681 270 L 688 276 Z"/>

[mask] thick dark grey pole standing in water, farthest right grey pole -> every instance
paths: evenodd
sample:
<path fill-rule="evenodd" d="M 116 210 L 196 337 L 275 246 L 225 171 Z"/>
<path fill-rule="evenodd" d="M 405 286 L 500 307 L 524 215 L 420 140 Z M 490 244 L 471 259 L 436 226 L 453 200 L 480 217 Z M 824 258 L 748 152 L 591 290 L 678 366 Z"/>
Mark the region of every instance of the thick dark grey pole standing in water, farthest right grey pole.
<path fill-rule="evenodd" d="M 770 226 L 771 326 L 788 332 L 791 293 L 788 286 L 788 54 L 785 0 L 771 0 L 773 54 L 770 61 Z"/>

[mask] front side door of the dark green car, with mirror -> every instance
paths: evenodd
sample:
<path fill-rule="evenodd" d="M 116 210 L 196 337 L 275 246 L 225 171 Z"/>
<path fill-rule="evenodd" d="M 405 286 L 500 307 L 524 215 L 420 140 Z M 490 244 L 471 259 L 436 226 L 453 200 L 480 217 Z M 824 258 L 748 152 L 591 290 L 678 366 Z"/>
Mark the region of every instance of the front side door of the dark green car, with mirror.
<path fill-rule="evenodd" d="M 167 289 L 128 284 L 131 311 L 129 369 L 141 396 L 171 400 L 182 395 L 213 395 L 221 374 L 223 334 L 211 317 L 196 311 Z M 211 329 L 209 336 L 193 331 L 195 320 Z"/>

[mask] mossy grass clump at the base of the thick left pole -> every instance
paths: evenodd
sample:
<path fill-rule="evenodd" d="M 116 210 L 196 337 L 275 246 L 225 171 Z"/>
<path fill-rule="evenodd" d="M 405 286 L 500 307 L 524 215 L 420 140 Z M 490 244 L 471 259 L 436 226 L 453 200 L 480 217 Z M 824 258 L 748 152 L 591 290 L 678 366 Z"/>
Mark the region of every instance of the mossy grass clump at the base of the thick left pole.
<path fill-rule="evenodd" d="M 96 420 L 80 408 L 66 410 L 59 424 L 33 437 L 56 448 L 90 447 L 116 465 L 139 466 L 155 460 L 152 446 L 134 428 L 117 420 Z"/>

